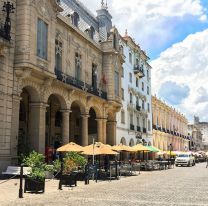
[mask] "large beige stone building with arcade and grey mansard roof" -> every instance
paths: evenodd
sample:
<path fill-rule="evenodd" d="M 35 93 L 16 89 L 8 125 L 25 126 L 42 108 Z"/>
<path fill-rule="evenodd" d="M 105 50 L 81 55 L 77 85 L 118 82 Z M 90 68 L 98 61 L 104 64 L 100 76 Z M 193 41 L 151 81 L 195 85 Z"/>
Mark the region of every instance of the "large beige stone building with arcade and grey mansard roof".
<path fill-rule="evenodd" d="M 77 0 L 10 2 L 11 41 L 0 33 L 1 169 L 69 141 L 115 144 L 124 59 L 107 6 L 93 16 Z"/>

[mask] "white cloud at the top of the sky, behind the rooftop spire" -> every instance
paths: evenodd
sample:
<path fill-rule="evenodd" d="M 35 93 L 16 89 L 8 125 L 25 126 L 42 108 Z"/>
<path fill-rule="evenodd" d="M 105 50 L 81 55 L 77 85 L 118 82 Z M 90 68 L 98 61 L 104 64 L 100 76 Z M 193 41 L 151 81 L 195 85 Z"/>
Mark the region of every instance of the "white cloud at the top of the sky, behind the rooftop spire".
<path fill-rule="evenodd" d="M 100 7 L 98 0 L 80 0 L 91 11 Z M 152 45 L 160 48 L 174 35 L 174 18 L 193 16 L 201 22 L 207 20 L 200 0 L 108 0 L 113 22 L 124 35 L 128 29 L 144 49 Z M 162 38 L 161 38 L 162 37 Z"/>

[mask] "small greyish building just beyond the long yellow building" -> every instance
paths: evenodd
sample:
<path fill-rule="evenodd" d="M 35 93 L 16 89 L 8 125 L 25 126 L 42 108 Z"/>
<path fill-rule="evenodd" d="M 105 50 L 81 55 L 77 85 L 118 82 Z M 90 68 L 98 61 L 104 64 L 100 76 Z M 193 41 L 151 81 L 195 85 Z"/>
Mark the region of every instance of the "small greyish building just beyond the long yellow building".
<path fill-rule="evenodd" d="M 203 135 L 195 124 L 188 124 L 188 135 L 190 136 L 189 148 L 192 151 L 199 151 L 203 149 L 202 138 Z"/>

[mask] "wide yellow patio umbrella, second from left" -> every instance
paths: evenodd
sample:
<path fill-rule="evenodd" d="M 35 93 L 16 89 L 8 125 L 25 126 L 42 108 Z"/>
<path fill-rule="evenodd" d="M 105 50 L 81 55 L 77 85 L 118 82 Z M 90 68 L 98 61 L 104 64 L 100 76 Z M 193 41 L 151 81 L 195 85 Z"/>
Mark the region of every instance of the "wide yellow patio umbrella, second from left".
<path fill-rule="evenodd" d="M 84 151 L 82 154 L 85 155 L 116 155 L 117 152 L 113 151 L 111 148 L 109 148 L 108 145 L 105 145 L 101 142 L 96 142 L 94 145 L 88 145 L 84 147 Z"/>

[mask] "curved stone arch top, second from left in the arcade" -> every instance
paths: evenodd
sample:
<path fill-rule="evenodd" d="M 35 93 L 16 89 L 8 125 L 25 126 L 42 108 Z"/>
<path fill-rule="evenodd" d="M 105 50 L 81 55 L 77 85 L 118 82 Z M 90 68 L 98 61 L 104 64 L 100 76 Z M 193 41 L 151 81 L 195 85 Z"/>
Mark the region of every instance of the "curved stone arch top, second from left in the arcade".
<path fill-rule="evenodd" d="M 61 109 L 70 108 L 67 93 L 63 89 L 57 87 L 51 87 L 50 89 L 46 90 L 46 92 L 44 93 L 43 101 L 48 102 L 48 99 L 51 95 L 54 95 L 58 98 L 61 104 Z"/>

